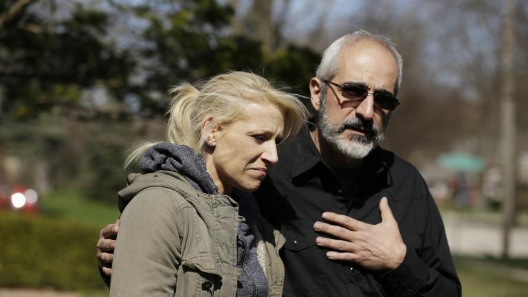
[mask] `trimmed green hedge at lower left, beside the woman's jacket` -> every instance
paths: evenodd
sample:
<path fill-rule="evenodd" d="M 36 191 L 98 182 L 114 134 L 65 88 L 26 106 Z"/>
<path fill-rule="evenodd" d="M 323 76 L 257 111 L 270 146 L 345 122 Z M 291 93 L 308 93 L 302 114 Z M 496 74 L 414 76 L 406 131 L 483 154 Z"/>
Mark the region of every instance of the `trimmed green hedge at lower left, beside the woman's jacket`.
<path fill-rule="evenodd" d="M 0 287 L 104 289 L 98 232 L 70 219 L 0 212 Z"/>

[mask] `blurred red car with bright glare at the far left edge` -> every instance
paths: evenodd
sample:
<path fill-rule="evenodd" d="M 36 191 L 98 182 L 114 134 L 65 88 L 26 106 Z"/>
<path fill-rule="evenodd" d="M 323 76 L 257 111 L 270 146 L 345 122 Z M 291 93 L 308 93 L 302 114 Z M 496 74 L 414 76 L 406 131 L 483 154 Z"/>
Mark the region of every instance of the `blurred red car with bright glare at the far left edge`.
<path fill-rule="evenodd" d="M 0 186 L 0 209 L 12 209 L 21 212 L 39 212 L 39 194 L 25 186 Z"/>

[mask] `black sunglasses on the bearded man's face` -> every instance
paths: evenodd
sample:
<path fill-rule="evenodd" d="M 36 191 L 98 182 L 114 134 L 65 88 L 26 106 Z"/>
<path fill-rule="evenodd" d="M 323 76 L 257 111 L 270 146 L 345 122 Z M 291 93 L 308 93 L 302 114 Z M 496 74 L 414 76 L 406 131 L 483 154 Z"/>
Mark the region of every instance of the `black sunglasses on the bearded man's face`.
<path fill-rule="evenodd" d="M 369 90 L 364 87 L 347 84 L 340 85 L 338 83 L 333 83 L 330 80 L 323 80 L 323 82 L 335 85 L 336 87 L 340 88 L 341 91 L 344 92 L 344 94 L 347 94 L 347 100 L 353 103 L 360 104 L 360 102 L 362 102 L 366 98 L 366 96 L 369 96 L 369 94 L 373 94 L 374 103 L 381 109 L 393 111 L 399 105 L 399 100 L 396 97 L 388 94 L 379 92 L 369 93 Z"/>

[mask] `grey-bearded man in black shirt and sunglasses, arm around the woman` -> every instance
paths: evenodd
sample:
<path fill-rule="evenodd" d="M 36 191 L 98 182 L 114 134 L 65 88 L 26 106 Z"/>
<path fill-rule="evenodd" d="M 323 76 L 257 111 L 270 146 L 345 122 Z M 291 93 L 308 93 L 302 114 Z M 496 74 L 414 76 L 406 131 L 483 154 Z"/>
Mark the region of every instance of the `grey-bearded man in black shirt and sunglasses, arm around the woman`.
<path fill-rule="evenodd" d="M 461 296 L 426 183 L 378 147 L 399 103 L 401 65 L 391 41 L 364 31 L 325 50 L 310 81 L 315 123 L 281 148 L 254 194 L 286 238 L 283 296 Z M 114 244 L 104 239 L 111 228 L 102 250 Z"/>

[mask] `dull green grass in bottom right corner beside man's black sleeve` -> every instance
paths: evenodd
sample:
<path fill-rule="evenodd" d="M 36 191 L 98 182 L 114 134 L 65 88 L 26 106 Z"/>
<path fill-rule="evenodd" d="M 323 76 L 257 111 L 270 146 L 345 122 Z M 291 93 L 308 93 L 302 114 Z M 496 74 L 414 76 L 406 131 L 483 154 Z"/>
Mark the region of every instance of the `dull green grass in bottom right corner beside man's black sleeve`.
<path fill-rule="evenodd" d="M 528 292 L 528 259 L 499 261 L 454 258 L 464 297 L 524 297 Z M 520 275 L 518 272 L 521 272 Z"/>

